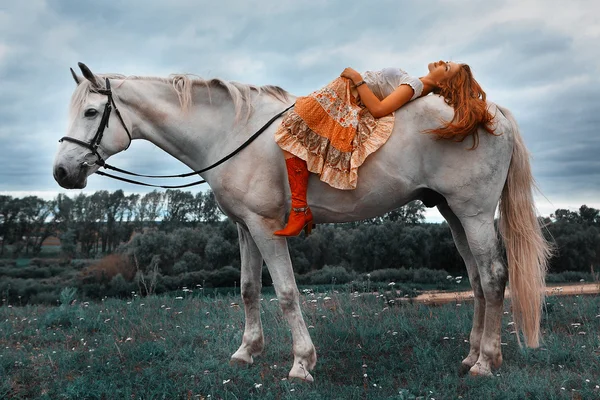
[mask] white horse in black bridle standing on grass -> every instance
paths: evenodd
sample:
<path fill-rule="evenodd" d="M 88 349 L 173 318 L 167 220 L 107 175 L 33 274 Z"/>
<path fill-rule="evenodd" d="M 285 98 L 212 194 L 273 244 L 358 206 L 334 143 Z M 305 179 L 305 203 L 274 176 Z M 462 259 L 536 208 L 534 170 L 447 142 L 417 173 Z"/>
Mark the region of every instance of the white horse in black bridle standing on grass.
<path fill-rule="evenodd" d="M 100 168 L 94 161 L 126 149 L 131 138 L 148 140 L 199 170 L 237 148 L 294 102 L 293 96 L 273 86 L 186 76 L 99 76 L 79 66 L 83 78 L 73 73 L 78 86 L 70 124 L 54 162 L 56 181 L 68 189 L 85 187 L 87 177 Z M 113 92 L 106 90 L 109 79 Z M 106 115 L 109 102 L 121 114 Z M 371 218 L 415 199 L 438 207 L 452 230 L 475 295 L 470 351 L 461 367 L 473 375 L 491 375 L 492 368 L 502 363 L 501 318 L 509 278 L 515 322 L 526 344 L 538 346 L 550 254 L 536 217 L 529 154 L 519 129 L 508 110 L 493 103 L 489 107 L 500 135 L 482 130 L 479 147 L 467 150 L 469 144 L 422 134 L 441 120 L 450 120 L 453 110 L 436 95 L 417 99 L 396 111 L 394 132 L 360 168 L 355 190 L 333 189 L 316 175 L 308 188 L 316 223 Z M 103 115 L 106 121 L 101 121 Z M 246 324 L 231 361 L 252 364 L 263 351 L 259 296 L 265 261 L 292 331 L 294 363 L 289 377 L 312 381 L 309 371 L 317 356 L 302 317 L 287 241 L 273 235 L 284 226 L 290 209 L 275 129 L 276 124 L 270 126 L 235 157 L 201 175 L 239 233 Z M 508 267 L 494 228 L 499 202 Z"/>

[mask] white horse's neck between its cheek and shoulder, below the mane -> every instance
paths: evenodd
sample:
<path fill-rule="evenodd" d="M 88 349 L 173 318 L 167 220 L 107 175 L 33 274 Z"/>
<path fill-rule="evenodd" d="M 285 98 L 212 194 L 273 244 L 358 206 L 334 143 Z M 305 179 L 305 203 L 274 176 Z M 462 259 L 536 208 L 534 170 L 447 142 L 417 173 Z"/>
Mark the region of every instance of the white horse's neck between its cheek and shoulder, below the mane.
<path fill-rule="evenodd" d="M 219 88 L 196 85 L 188 110 L 168 82 L 130 80 L 117 92 L 130 111 L 134 138 L 152 142 L 194 169 L 205 166 L 198 163 L 211 160 L 217 148 L 230 148 L 231 136 L 245 136 L 252 123 L 252 117 L 236 121 L 233 101 Z"/>

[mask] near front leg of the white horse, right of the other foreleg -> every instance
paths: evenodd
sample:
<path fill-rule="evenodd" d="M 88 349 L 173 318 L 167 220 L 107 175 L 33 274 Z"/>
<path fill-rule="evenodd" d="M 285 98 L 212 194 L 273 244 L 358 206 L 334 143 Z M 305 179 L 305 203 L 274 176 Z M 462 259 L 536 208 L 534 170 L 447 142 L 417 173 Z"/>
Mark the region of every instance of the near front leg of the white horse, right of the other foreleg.
<path fill-rule="evenodd" d="M 300 310 L 300 295 L 287 240 L 273 235 L 274 231 L 281 229 L 281 221 L 259 218 L 248 228 L 267 263 L 279 306 L 292 330 L 294 364 L 288 376 L 312 382 L 309 371 L 315 367 L 317 353 Z"/>

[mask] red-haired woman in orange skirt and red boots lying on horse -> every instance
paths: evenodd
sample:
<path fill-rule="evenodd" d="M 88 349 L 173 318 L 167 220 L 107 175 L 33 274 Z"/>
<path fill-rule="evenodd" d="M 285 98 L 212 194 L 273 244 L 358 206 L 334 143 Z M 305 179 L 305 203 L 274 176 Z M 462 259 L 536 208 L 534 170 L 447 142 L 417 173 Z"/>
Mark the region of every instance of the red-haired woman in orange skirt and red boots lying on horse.
<path fill-rule="evenodd" d="M 472 149 L 478 145 L 479 127 L 494 133 L 485 92 L 468 65 L 438 61 L 428 69 L 416 78 L 397 68 L 366 72 L 364 77 L 346 68 L 326 87 L 298 98 L 275 134 L 292 193 L 287 225 L 275 235 L 296 236 L 302 229 L 310 233 L 309 171 L 332 187 L 355 189 L 358 167 L 389 138 L 394 111 L 418 97 L 439 94 L 454 108 L 451 121 L 426 133 L 454 141 L 473 136 Z"/>

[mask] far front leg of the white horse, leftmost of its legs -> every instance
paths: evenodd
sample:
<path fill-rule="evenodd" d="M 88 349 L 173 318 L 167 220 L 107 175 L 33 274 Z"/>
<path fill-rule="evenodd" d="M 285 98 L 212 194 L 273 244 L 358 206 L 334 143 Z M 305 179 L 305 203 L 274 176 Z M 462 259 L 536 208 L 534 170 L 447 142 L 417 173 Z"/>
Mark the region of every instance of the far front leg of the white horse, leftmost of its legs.
<path fill-rule="evenodd" d="M 231 356 L 231 364 L 252 364 L 253 356 L 264 347 L 262 323 L 260 321 L 260 290 L 263 259 L 246 227 L 237 224 L 240 241 L 242 299 L 246 313 L 246 325 L 242 345 Z"/>

